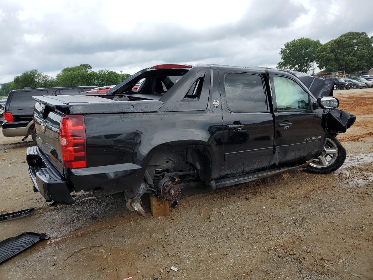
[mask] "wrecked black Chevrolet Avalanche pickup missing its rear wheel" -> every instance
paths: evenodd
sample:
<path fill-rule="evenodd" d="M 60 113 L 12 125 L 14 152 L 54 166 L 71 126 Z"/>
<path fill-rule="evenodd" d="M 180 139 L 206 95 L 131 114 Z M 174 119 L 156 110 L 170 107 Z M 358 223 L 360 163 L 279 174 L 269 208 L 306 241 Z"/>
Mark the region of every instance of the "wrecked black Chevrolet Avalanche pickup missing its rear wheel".
<path fill-rule="evenodd" d="M 145 192 L 177 202 L 187 186 L 335 171 L 346 157 L 335 136 L 355 116 L 335 109 L 333 82 L 304 75 L 167 64 L 106 94 L 36 96 L 38 146 L 27 149 L 34 191 L 52 204 L 71 204 L 70 193 L 82 190 L 124 192 L 144 215 Z"/>

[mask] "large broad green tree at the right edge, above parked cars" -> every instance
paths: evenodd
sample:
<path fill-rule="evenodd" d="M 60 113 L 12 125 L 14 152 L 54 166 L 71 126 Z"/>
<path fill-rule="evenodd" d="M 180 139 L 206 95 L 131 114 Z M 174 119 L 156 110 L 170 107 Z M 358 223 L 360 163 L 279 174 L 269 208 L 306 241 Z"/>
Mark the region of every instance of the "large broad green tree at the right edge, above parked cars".
<path fill-rule="evenodd" d="M 373 36 L 366 32 L 347 32 L 323 44 L 317 64 L 326 72 L 359 71 L 373 66 Z"/>

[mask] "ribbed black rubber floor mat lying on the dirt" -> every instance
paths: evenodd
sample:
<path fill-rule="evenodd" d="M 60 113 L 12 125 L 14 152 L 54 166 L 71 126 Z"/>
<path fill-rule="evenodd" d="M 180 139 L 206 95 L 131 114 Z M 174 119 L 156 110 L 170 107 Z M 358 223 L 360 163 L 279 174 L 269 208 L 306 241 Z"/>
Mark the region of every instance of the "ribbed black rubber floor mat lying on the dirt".
<path fill-rule="evenodd" d="M 43 239 L 47 240 L 49 236 L 44 233 L 24 232 L 19 236 L 9 237 L 1 241 L 0 264 Z"/>

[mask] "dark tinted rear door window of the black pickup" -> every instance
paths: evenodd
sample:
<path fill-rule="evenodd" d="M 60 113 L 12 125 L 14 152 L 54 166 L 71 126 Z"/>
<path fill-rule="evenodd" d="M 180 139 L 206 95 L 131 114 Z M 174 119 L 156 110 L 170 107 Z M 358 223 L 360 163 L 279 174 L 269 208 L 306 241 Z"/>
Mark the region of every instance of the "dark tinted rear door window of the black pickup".
<path fill-rule="evenodd" d="M 232 112 L 266 111 L 266 92 L 260 75 L 228 73 L 225 95 Z"/>

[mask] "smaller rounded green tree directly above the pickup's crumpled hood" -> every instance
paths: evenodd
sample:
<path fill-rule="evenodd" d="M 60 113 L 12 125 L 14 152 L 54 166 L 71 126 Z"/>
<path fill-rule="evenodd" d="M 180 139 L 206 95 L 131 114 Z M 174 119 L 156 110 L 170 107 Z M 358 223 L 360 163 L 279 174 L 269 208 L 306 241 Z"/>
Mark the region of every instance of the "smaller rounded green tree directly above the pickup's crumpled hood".
<path fill-rule="evenodd" d="M 294 39 L 286 42 L 281 48 L 281 60 L 277 63 L 280 69 L 307 73 L 316 62 L 317 49 L 321 46 L 319 40 L 310 38 Z"/>

